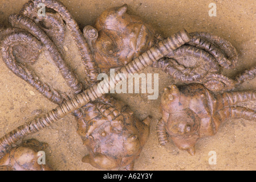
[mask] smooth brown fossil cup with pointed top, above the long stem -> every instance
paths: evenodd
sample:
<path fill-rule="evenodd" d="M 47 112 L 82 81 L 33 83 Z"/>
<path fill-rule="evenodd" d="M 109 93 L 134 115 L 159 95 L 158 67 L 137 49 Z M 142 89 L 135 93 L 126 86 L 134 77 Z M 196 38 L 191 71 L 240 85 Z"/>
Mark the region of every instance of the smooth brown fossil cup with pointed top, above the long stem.
<path fill-rule="evenodd" d="M 127 65 L 156 43 L 153 28 L 127 14 L 127 5 L 105 10 L 97 18 L 95 28 L 85 27 L 84 36 L 90 40 L 101 72 Z"/>

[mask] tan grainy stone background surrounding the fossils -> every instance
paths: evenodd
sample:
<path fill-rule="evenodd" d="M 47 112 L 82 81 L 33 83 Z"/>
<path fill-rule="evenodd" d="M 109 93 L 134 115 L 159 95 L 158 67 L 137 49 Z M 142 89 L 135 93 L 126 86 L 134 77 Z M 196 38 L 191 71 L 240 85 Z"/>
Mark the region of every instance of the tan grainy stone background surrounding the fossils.
<path fill-rule="evenodd" d="M 7 17 L 18 13 L 26 0 L 0 0 L 0 23 L 7 24 Z M 108 7 L 128 4 L 128 13 L 139 15 L 145 22 L 152 24 L 164 37 L 186 28 L 192 31 L 207 31 L 229 40 L 239 52 L 237 68 L 224 71 L 233 76 L 256 63 L 256 1 L 68 1 L 61 0 L 68 7 L 80 28 L 94 25 L 96 17 Z M 216 3 L 217 16 L 210 17 L 209 3 Z M 77 48 L 68 35 L 63 46 L 67 47 L 66 61 L 83 80 L 83 65 Z M 47 52 L 33 65 L 43 80 L 55 85 L 63 92 L 70 92 L 58 71 L 48 61 Z M 46 100 L 15 76 L 0 61 L 0 136 L 15 129 L 35 115 L 46 113 L 56 105 Z M 44 74 L 44 73 L 50 74 Z M 148 68 L 145 73 L 160 73 L 159 90 L 173 82 L 172 78 L 157 69 Z M 50 75 L 50 76 L 49 76 Z M 238 90 L 256 89 L 256 79 L 239 86 Z M 256 123 L 237 119 L 227 121 L 214 137 L 198 140 L 196 155 L 178 150 L 172 142 L 160 147 L 156 138 L 156 123 L 161 117 L 159 99 L 148 101 L 145 94 L 122 94 L 115 96 L 127 103 L 139 118 L 153 116 L 151 135 L 145 144 L 141 156 L 135 163 L 135 170 L 255 170 L 256 169 Z M 81 162 L 87 154 L 82 140 L 76 134 L 76 122 L 67 115 L 48 129 L 31 135 L 41 142 L 47 142 L 47 163 L 57 170 L 97 170 Z M 209 151 L 216 151 L 217 164 L 208 163 Z"/>

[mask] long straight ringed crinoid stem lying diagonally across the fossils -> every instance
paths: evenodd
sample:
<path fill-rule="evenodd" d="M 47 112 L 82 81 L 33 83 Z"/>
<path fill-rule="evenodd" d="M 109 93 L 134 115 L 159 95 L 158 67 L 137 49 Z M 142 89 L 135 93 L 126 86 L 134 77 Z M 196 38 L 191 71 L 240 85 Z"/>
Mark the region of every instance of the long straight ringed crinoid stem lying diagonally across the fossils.
<path fill-rule="evenodd" d="M 128 73 L 137 73 L 142 71 L 144 68 L 152 65 L 153 61 L 159 60 L 170 51 L 173 51 L 174 49 L 182 46 L 182 44 L 189 42 L 189 40 L 188 32 L 182 30 L 170 38 L 162 40 L 162 42 L 159 42 L 159 44 L 156 44 L 156 46 L 152 47 L 147 52 L 144 52 L 116 73 L 123 73 L 128 77 Z M 115 80 L 114 77 L 110 77 L 109 80 L 109 82 L 105 82 L 103 80 L 100 84 L 104 85 L 108 90 L 111 90 L 119 80 Z M 93 85 L 84 90 L 84 92 L 76 95 L 72 100 L 64 101 L 63 104 L 59 105 L 42 117 L 36 118 L 25 123 L 25 125 L 19 126 L 18 129 L 11 131 L 0 139 L 0 153 L 5 153 L 6 149 L 19 139 L 22 139 L 28 134 L 35 133 L 44 127 L 50 126 L 51 123 L 63 118 L 65 115 L 75 111 L 76 109 L 79 109 L 88 102 L 95 101 L 96 98 L 103 96 L 104 93 L 103 89 L 98 89 L 97 85 Z"/>

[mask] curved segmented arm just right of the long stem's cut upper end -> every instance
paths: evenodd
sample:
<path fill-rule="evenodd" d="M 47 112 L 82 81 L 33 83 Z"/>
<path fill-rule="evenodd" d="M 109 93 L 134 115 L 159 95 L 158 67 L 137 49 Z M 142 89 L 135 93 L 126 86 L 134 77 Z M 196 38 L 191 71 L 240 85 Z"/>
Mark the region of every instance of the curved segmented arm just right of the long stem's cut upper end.
<path fill-rule="evenodd" d="M 223 68 L 233 69 L 237 65 L 237 50 L 224 38 L 208 32 L 192 32 L 190 36 L 190 46 L 209 52 Z"/>

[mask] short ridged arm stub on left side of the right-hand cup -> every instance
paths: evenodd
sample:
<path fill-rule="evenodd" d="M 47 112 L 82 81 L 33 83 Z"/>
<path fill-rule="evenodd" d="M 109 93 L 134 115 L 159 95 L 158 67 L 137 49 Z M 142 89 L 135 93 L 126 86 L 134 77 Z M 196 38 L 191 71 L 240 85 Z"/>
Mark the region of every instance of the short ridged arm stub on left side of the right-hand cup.
<path fill-rule="evenodd" d="M 162 119 L 160 119 L 159 122 L 157 123 L 156 135 L 157 135 L 157 138 L 159 139 L 159 144 L 161 146 L 165 146 L 169 142 L 169 137 L 165 130 L 165 124 Z"/>

